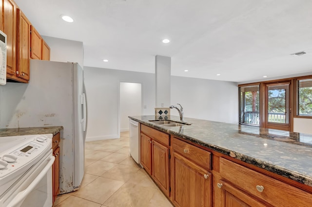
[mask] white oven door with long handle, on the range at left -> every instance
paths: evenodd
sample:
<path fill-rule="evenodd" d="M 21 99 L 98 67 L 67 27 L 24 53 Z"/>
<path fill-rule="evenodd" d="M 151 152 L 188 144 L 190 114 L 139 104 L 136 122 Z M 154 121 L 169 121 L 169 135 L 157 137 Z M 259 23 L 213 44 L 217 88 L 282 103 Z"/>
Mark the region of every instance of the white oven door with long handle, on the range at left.
<path fill-rule="evenodd" d="M 1 196 L 5 207 L 51 207 L 52 149 Z"/>

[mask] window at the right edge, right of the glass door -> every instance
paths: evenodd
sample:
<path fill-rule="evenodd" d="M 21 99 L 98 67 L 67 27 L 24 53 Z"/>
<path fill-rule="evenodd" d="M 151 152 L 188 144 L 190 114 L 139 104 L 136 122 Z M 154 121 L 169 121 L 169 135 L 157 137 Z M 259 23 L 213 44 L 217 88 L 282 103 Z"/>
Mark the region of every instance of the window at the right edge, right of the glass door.
<path fill-rule="evenodd" d="M 312 116 L 312 79 L 297 80 L 297 116 Z"/>

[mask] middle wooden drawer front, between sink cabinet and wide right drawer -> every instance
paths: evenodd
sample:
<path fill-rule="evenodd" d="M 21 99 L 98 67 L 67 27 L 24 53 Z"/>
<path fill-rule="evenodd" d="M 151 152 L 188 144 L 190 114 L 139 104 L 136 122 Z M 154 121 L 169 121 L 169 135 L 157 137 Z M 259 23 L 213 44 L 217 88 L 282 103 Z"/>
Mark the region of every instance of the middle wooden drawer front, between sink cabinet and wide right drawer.
<path fill-rule="evenodd" d="M 180 139 L 173 138 L 172 148 L 175 152 L 187 157 L 205 169 L 211 170 L 211 153 L 195 147 Z"/>

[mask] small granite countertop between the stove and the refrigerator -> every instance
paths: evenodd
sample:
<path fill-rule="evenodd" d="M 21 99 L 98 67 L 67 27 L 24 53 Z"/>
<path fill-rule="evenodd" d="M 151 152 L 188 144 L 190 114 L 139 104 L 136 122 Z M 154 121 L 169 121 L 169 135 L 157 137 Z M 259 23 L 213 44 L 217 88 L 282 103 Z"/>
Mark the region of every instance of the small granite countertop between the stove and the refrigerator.
<path fill-rule="evenodd" d="M 0 137 L 40 134 L 52 134 L 54 136 L 61 130 L 63 130 L 62 126 L 0 129 Z"/>

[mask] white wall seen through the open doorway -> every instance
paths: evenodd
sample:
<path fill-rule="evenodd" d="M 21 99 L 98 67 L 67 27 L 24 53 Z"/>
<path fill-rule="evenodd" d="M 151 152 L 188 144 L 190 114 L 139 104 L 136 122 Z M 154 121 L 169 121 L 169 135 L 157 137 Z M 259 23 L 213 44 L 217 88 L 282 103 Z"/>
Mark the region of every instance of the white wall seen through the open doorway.
<path fill-rule="evenodd" d="M 129 131 L 128 116 L 142 113 L 141 84 L 120 83 L 120 132 Z"/>

